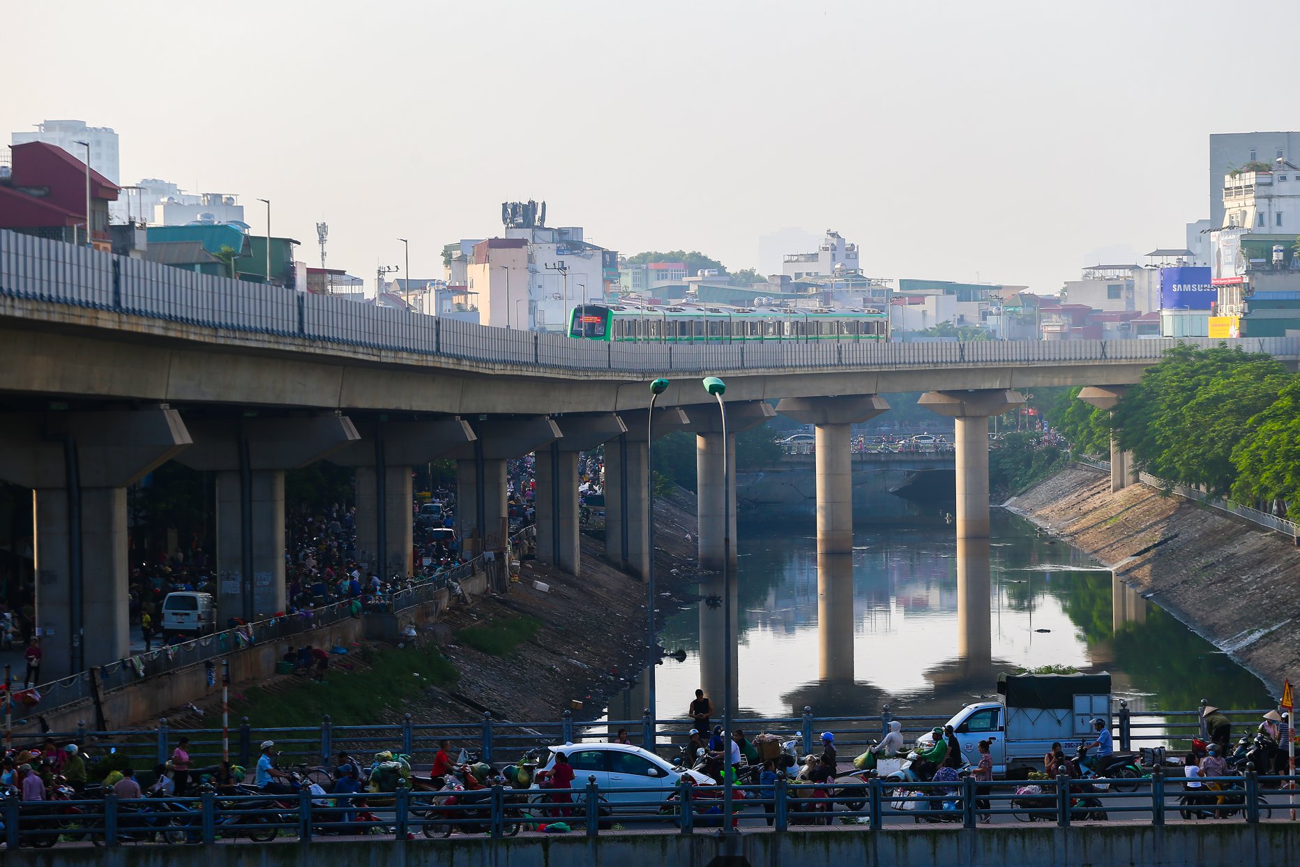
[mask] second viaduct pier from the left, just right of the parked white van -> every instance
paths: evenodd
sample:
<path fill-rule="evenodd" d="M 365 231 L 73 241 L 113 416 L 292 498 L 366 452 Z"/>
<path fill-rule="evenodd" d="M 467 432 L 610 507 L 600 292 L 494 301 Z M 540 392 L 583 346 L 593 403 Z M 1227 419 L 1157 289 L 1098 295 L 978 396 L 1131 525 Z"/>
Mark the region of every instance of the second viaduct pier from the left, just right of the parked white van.
<path fill-rule="evenodd" d="M 347 416 L 195 419 L 178 460 L 217 474 L 217 624 L 285 610 L 285 471 L 360 439 Z"/>

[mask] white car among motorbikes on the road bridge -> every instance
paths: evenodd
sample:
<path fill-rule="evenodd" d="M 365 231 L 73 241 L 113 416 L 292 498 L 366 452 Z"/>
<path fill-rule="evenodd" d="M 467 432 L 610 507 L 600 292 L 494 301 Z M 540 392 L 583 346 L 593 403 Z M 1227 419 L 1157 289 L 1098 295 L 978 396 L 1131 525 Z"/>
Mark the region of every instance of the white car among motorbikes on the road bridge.
<path fill-rule="evenodd" d="M 540 771 L 555 767 L 555 754 L 563 753 L 573 766 L 573 788 L 582 789 L 589 777 L 595 777 L 601 796 L 612 811 L 650 812 L 646 807 L 634 807 L 629 802 L 667 801 L 677 788 L 682 776 L 690 776 L 701 785 L 716 785 L 712 777 L 689 768 L 675 768 L 654 753 L 630 744 L 566 744 L 549 746 L 550 755 Z M 534 783 L 533 789 L 540 786 Z M 662 789 L 662 797 L 653 792 L 621 792 L 621 789 Z M 575 801 L 578 796 L 575 794 Z"/>

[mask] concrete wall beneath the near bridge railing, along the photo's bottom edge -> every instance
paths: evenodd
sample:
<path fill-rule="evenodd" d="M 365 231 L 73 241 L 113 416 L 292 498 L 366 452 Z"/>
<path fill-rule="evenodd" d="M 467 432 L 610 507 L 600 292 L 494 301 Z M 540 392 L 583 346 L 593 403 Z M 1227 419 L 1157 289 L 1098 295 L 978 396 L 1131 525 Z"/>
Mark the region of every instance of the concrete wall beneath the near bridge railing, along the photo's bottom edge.
<path fill-rule="evenodd" d="M 57 846 L 5 853 L 16 867 L 779 867 L 786 864 L 854 864 L 901 867 L 1084 867 L 1147 864 L 1150 867 L 1244 867 L 1287 864 L 1297 854 L 1300 827 L 1286 822 L 1257 825 L 1197 823 L 1184 825 L 1122 824 L 1076 828 L 1000 827 L 810 829 L 746 832 L 723 840 L 716 832 L 607 835 L 585 837 L 516 837 L 488 840 L 330 840 L 312 845 Z M 328 854 L 325 846 L 329 846 Z"/>

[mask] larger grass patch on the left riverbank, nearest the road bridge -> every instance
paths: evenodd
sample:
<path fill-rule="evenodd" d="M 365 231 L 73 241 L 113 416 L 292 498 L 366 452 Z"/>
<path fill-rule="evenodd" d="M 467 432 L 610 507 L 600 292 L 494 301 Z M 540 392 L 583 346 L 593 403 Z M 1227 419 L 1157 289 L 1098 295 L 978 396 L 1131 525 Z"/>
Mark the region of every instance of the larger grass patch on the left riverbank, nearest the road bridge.
<path fill-rule="evenodd" d="M 351 659 L 365 663 L 356 671 L 341 666 Z M 419 677 L 416 677 L 419 675 Z M 361 649 L 351 656 L 330 656 L 325 682 L 306 677 L 287 689 L 268 692 L 261 686 L 231 698 L 230 718 L 247 716 L 255 728 L 320 725 L 326 714 L 335 725 L 374 723 L 381 710 L 400 710 L 426 686 L 451 686 L 459 675 L 433 645 L 426 647 Z M 220 728 L 221 715 L 203 718 L 207 728 Z"/>

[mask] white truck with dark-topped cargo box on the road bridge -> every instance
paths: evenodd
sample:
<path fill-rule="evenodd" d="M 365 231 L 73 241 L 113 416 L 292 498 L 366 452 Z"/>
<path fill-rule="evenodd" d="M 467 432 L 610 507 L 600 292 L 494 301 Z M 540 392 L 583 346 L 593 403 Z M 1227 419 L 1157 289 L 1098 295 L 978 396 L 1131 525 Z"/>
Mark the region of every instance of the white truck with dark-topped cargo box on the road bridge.
<path fill-rule="evenodd" d="M 957 711 L 953 727 L 962 755 L 979 763 L 976 744 L 988 738 L 996 776 L 1041 771 L 1043 757 L 1060 742 L 1067 757 L 1096 740 L 1092 720 L 1110 724 L 1110 675 L 998 675 L 998 701 Z M 933 744 L 931 733 L 916 744 Z"/>

